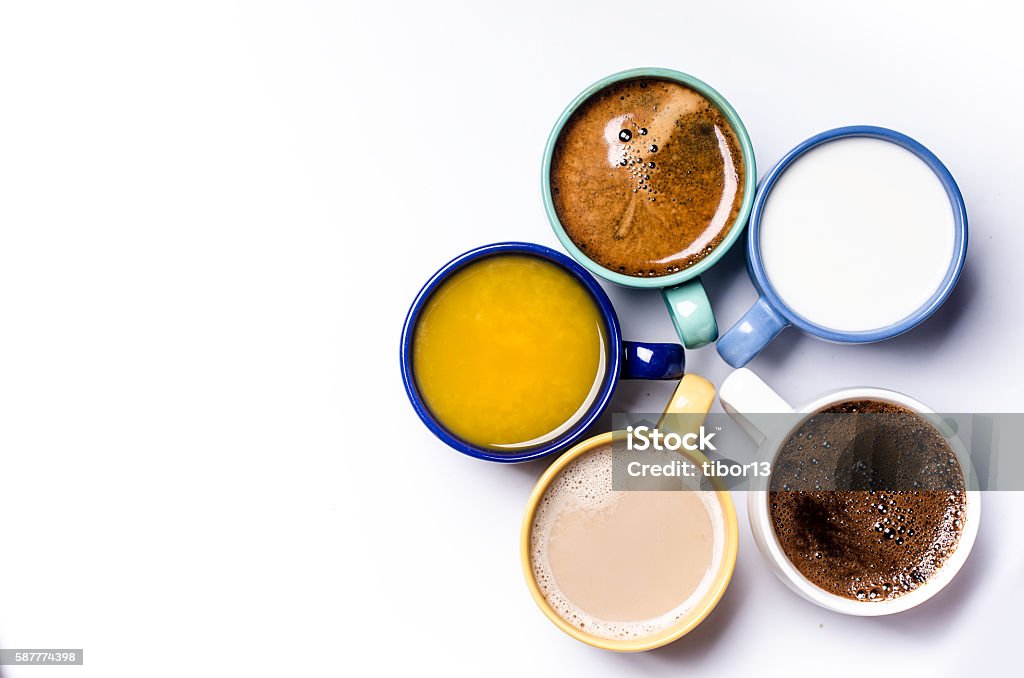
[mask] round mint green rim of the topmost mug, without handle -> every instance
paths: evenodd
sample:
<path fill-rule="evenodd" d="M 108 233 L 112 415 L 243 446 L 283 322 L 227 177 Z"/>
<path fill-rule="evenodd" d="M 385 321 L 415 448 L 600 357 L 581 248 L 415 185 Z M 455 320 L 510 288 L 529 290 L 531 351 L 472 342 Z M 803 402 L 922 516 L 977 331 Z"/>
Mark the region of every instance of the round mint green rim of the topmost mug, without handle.
<path fill-rule="evenodd" d="M 625 273 L 621 273 L 615 270 L 610 270 L 584 254 L 584 252 L 577 247 L 575 243 L 572 242 L 572 239 L 570 239 L 565 232 L 565 228 L 562 227 L 561 220 L 559 220 L 558 214 L 555 212 L 555 205 L 551 198 L 551 159 L 554 155 L 555 144 L 558 142 L 558 137 L 561 134 L 562 129 L 565 127 L 565 123 L 572 116 L 572 114 L 577 112 L 580 105 L 596 92 L 609 85 L 613 85 L 624 80 L 631 80 L 633 78 L 654 78 L 677 82 L 689 87 L 702 95 L 705 98 L 709 99 L 715 104 L 716 108 L 718 108 L 719 111 L 722 112 L 722 115 L 725 116 L 729 125 L 732 126 L 732 129 L 736 134 L 736 138 L 739 140 L 740 153 L 743 154 L 743 201 L 740 204 L 739 213 L 732 222 L 729 232 L 726 234 L 725 238 L 722 239 L 722 242 L 720 242 L 715 249 L 712 250 L 711 254 L 700 261 L 697 261 L 695 264 L 687 266 L 683 270 L 679 270 L 674 273 L 652 278 L 637 278 L 634 276 L 626 276 Z M 555 236 L 562 244 L 562 247 L 565 248 L 573 259 L 583 264 L 587 270 L 595 276 L 625 287 L 643 289 L 674 287 L 680 283 L 685 283 L 686 281 L 696 278 L 705 270 L 715 265 L 715 263 L 729 251 L 729 248 L 731 248 L 733 244 L 739 240 L 739 236 L 742 232 L 743 227 L 746 225 L 746 220 L 751 215 L 751 209 L 754 205 L 756 184 L 757 166 L 754 159 L 754 145 L 751 142 L 750 134 L 746 132 L 746 127 L 743 125 L 742 120 L 740 120 L 739 114 L 737 114 L 735 109 L 732 108 L 732 104 L 729 103 L 729 101 L 715 88 L 699 78 L 680 71 L 674 71 L 672 69 L 651 67 L 629 69 L 627 71 L 613 73 L 610 76 L 601 78 L 578 94 L 562 111 L 562 114 L 555 122 L 555 126 L 552 128 L 551 133 L 548 134 L 548 141 L 544 147 L 544 162 L 541 167 L 541 195 L 544 201 L 544 211 L 548 216 L 548 222 L 551 224 L 551 228 L 555 231 Z"/>

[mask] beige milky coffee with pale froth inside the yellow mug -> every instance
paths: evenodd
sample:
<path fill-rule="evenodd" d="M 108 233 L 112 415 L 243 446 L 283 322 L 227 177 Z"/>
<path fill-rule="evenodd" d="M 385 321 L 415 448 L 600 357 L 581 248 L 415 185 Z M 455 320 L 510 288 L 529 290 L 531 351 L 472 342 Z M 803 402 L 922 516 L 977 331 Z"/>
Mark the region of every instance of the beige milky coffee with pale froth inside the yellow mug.
<path fill-rule="evenodd" d="M 538 503 L 534 577 L 578 629 L 644 638 L 675 625 L 708 592 L 724 525 L 714 492 L 613 490 L 612 448 L 604 446 L 562 469 Z"/>

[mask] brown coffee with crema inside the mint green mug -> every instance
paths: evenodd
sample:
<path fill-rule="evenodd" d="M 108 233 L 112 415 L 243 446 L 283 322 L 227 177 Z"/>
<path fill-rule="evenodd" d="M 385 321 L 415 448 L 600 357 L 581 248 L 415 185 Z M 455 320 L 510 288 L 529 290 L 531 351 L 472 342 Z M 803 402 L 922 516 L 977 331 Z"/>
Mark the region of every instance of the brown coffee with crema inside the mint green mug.
<path fill-rule="evenodd" d="M 723 113 L 656 78 L 598 91 L 569 117 L 551 159 L 551 198 L 566 235 L 605 268 L 683 270 L 735 227 L 744 159 Z"/>

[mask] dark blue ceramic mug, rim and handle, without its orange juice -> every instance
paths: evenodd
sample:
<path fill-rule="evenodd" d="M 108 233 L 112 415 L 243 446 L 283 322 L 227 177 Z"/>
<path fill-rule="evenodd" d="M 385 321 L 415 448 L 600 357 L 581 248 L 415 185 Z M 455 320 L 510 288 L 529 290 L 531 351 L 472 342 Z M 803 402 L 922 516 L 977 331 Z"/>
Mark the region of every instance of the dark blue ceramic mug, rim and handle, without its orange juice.
<path fill-rule="evenodd" d="M 475 446 L 449 431 L 430 412 L 417 387 L 413 373 L 413 336 L 420 313 L 430 296 L 460 268 L 484 257 L 501 254 L 523 254 L 540 257 L 558 265 L 579 280 L 597 304 L 604 323 L 604 335 L 608 348 L 604 376 L 591 407 L 560 435 L 539 446 L 512 452 L 500 452 Z M 461 254 L 441 266 L 440 270 L 427 281 L 419 294 L 416 295 L 416 299 L 406 315 L 406 325 L 401 330 L 399 361 L 406 394 L 409 396 L 413 409 L 416 410 L 416 414 L 434 435 L 464 455 L 492 462 L 514 463 L 540 459 L 561 452 L 578 442 L 611 401 L 620 379 L 679 379 L 683 375 L 684 355 L 683 347 L 679 344 L 624 341 L 618 327 L 618 317 L 615 315 L 608 295 L 583 266 L 564 254 L 543 245 L 511 242 L 484 245 Z"/>

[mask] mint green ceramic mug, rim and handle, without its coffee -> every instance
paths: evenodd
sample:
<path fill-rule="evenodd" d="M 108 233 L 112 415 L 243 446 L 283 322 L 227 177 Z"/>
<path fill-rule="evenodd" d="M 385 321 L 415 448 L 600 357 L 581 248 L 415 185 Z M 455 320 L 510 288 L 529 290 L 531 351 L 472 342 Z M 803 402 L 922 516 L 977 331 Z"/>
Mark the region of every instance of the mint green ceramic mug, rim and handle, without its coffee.
<path fill-rule="evenodd" d="M 742 204 L 725 238 L 722 239 L 710 254 L 691 266 L 676 272 L 651 278 L 627 276 L 615 270 L 610 270 L 584 254 L 565 232 L 555 212 L 554 202 L 551 197 L 551 160 L 565 123 L 575 113 L 577 109 L 595 93 L 609 85 L 633 78 L 654 78 L 677 82 L 701 94 L 722 112 L 729 125 L 732 126 L 743 155 Z M 708 301 L 708 294 L 700 283 L 700 273 L 714 266 L 722 258 L 722 255 L 732 247 L 732 244 L 739 240 L 739 235 L 742 232 L 743 226 L 746 225 L 746 219 L 751 214 L 751 207 L 754 204 L 756 183 L 757 169 L 754 163 L 754 147 L 751 144 L 750 136 L 746 134 L 746 128 L 732 105 L 711 86 L 693 76 L 669 69 L 652 68 L 632 69 L 602 78 L 573 98 L 568 107 L 565 108 L 565 111 L 562 112 L 562 115 L 559 116 L 558 122 L 555 123 L 551 134 L 548 136 L 548 143 L 544 150 L 544 166 L 541 175 L 544 209 L 548 214 L 551 227 L 554 228 L 555 236 L 558 237 L 558 240 L 569 255 L 587 268 L 587 270 L 606 281 L 626 287 L 662 290 L 665 304 L 669 308 L 669 315 L 676 327 L 676 332 L 679 334 L 683 345 L 687 348 L 703 346 L 718 338 L 718 324 L 715 322 L 715 313 L 712 311 L 711 303 Z"/>

